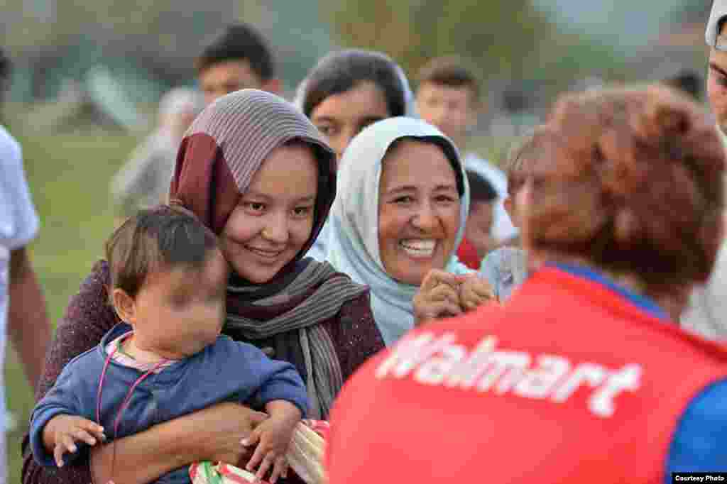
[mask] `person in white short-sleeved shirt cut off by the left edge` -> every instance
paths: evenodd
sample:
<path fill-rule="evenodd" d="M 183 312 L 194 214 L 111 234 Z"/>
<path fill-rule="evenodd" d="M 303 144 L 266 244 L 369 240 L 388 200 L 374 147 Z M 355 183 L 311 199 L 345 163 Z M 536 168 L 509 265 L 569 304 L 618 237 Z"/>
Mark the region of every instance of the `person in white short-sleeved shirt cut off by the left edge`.
<path fill-rule="evenodd" d="M 9 60 L 0 49 L 0 81 Z M 0 365 L 7 334 L 32 387 L 41 375 L 50 342 L 46 304 L 26 246 L 38 232 L 39 220 L 23 172 L 20 145 L 0 125 Z M 6 412 L 0 371 L 0 416 Z M 7 482 L 5 422 L 0 419 L 0 484 Z"/>

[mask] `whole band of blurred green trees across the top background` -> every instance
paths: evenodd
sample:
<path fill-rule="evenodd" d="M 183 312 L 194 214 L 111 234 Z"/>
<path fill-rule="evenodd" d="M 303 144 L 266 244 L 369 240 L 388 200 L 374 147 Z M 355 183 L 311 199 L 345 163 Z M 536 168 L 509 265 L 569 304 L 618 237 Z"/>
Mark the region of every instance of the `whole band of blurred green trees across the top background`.
<path fill-rule="evenodd" d="M 52 99 L 64 80 L 82 80 L 102 64 L 135 102 L 156 102 L 169 86 L 192 84 L 201 47 L 238 20 L 268 36 L 289 91 L 335 47 L 382 50 L 411 77 L 430 57 L 459 54 L 475 61 L 490 92 L 519 89 L 541 98 L 586 77 L 650 75 L 635 69 L 642 52 L 614 45 L 622 26 L 603 18 L 608 41 L 563 22 L 573 1 L 579 0 L 3 0 L 0 43 L 17 65 L 11 97 L 23 101 Z M 708 15 L 707 0 L 668 2 L 669 12 L 661 0 L 614 0 L 613 8 L 653 12 L 665 19 L 660 34 L 685 22 L 703 25 Z"/>

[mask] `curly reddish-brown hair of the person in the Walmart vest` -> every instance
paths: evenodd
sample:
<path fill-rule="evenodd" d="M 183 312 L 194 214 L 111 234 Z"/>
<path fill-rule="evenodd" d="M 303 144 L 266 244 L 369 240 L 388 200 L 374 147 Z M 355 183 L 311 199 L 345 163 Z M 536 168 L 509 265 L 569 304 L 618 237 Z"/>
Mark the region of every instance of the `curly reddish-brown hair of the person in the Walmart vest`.
<path fill-rule="evenodd" d="M 651 294 L 707 280 L 725 150 L 699 105 L 665 86 L 565 94 L 533 142 L 535 249 L 635 275 Z"/>

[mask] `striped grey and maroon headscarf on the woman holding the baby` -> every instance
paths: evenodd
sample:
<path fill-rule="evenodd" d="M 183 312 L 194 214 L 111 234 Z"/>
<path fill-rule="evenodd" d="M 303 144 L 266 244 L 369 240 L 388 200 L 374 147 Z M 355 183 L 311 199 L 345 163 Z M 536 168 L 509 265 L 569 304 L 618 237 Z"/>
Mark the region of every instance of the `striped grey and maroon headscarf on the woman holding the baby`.
<path fill-rule="evenodd" d="M 189 209 L 220 235 L 265 159 L 294 140 L 310 145 L 318 161 L 313 230 L 297 256 L 268 283 L 230 278 L 225 332 L 253 343 L 277 339 L 278 349 L 291 348 L 276 358 L 298 368 L 307 383 L 310 416 L 321 418 L 343 382 L 332 340 L 320 323 L 366 291 L 331 265 L 303 259 L 336 195 L 333 150 L 283 98 L 256 89 L 233 92 L 207 106 L 185 134 L 169 201 Z"/>

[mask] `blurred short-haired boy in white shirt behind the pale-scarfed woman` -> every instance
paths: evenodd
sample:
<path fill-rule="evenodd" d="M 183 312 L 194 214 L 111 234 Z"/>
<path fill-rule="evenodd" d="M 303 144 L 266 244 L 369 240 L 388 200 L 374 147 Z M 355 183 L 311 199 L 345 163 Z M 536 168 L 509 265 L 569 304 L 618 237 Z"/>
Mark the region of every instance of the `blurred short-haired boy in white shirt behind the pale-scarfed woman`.
<path fill-rule="evenodd" d="M 467 150 L 467 138 L 477 123 L 480 100 L 480 81 L 475 70 L 459 57 L 437 57 L 420 71 L 417 89 L 417 112 L 425 121 L 437 126 L 462 152 L 465 168 L 484 177 L 497 190 L 491 235 L 505 243 L 518 235 L 503 201 L 507 198 L 507 177 L 501 169 Z"/>

